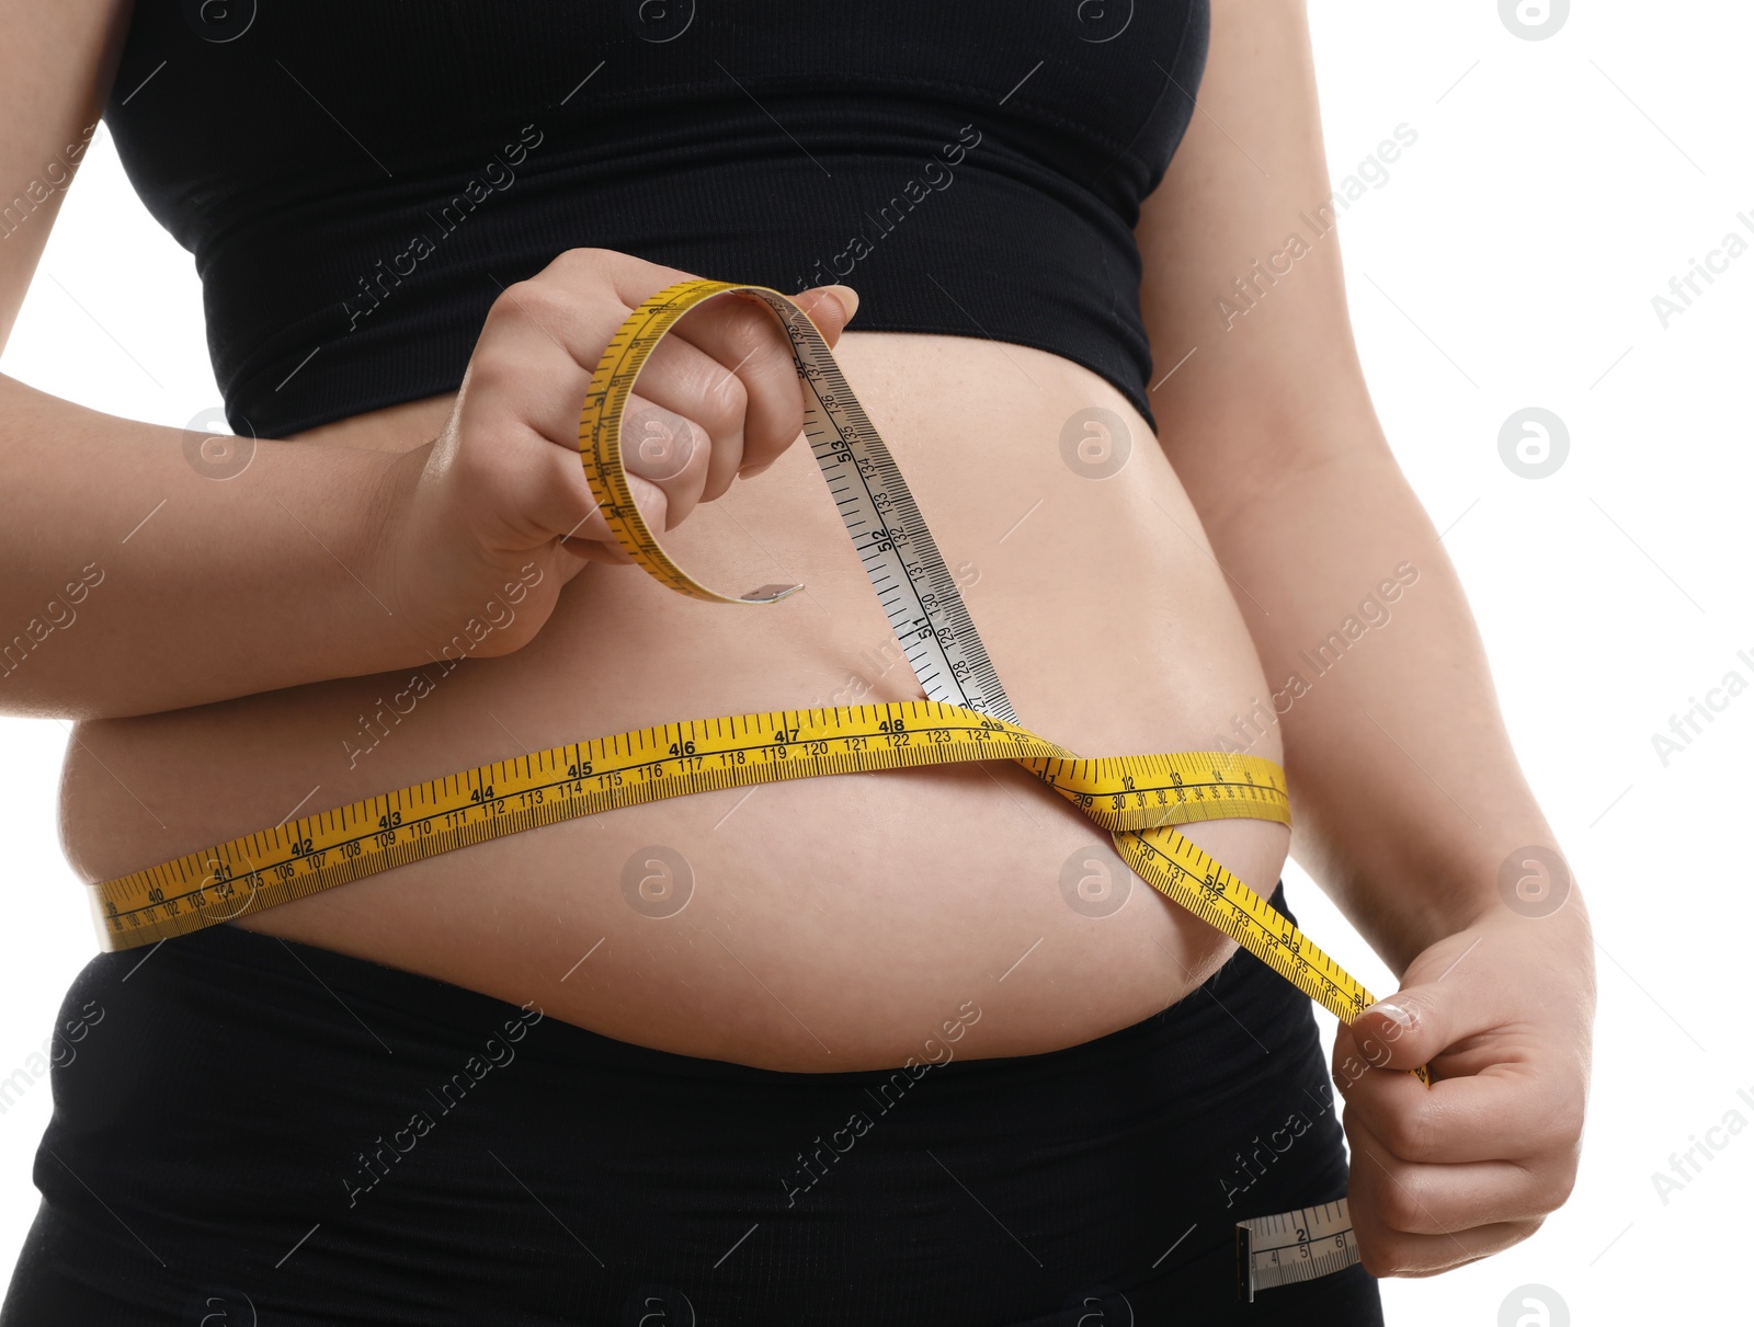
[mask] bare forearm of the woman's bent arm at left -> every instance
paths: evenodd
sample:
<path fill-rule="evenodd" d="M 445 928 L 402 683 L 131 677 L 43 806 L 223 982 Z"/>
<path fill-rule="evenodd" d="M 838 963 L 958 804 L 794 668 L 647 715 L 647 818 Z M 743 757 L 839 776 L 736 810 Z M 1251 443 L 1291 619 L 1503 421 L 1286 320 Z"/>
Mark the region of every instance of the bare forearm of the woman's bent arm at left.
<path fill-rule="evenodd" d="M 149 713 L 421 657 L 370 584 L 396 454 L 254 447 L 216 480 L 182 429 L 0 377 L 0 712 Z"/>

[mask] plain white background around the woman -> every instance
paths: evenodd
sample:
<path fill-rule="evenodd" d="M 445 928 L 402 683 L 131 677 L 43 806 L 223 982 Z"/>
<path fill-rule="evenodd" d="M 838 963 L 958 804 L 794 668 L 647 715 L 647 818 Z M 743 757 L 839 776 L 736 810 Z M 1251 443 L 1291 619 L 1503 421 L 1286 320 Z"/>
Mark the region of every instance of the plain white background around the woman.
<path fill-rule="evenodd" d="M 1559 0 L 1552 0 L 1558 4 Z M 1745 410 L 1754 252 L 1663 328 L 1652 296 L 1729 231 L 1754 242 L 1754 12 L 1579 4 L 1545 40 L 1496 0 L 1314 0 L 1330 168 L 1405 123 L 1417 142 L 1342 217 L 1377 408 L 1461 568 L 1524 768 L 1589 899 L 1601 1008 L 1572 1203 L 1508 1253 L 1384 1283 L 1389 1322 L 1726 1322 L 1749 1232 L 1754 1129 L 1665 1204 L 1652 1171 L 1740 1110 L 1754 1124 L 1740 889 L 1754 694 L 1665 768 L 1651 736 L 1735 670 L 1754 684 Z M 1314 202 L 1314 200 L 1312 200 Z M 184 426 L 219 403 L 189 256 L 135 200 L 100 130 L 49 242 L 5 373 Z M 1570 431 L 1558 473 L 1498 454 L 1517 408 Z M 0 1078 L 42 1048 L 95 952 L 54 836 L 65 727 L 0 719 Z M 1298 871 L 1305 927 L 1372 989 L 1386 968 Z M 1740 969 L 1740 971 L 1738 971 Z M 35 1213 L 47 1080 L 0 1115 L 0 1266 Z M 1724 1138 L 1724 1134 L 1717 1134 Z M 1745 1309 L 1743 1309 L 1745 1311 Z M 1503 1318 L 1515 1322 L 1517 1315 Z"/>

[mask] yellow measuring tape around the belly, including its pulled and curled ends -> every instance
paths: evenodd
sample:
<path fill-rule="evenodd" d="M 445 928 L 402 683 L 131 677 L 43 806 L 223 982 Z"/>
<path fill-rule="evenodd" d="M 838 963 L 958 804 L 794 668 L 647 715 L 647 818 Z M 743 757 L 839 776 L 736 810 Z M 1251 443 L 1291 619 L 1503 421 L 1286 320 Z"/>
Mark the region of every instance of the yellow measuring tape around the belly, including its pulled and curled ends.
<path fill-rule="evenodd" d="M 805 387 L 805 436 L 928 699 L 688 719 L 553 747 L 307 815 L 91 885 L 105 948 L 132 948 L 272 908 L 424 857 L 616 806 L 709 789 L 965 761 L 1016 761 L 1114 836 L 1147 883 L 1235 938 L 1342 1020 L 1373 996 L 1266 899 L 1175 833 L 1194 820 L 1291 824 L 1284 771 L 1258 756 L 1080 757 L 1031 733 L 975 633 L 902 472 L 816 324 L 779 291 L 684 280 L 626 319 L 591 379 L 579 454 L 616 540 L 670 589 L 719 603 L 775 603 L 698 584 L 645 526 L 621 459 L 633 382 L 689 309 L 738 291 L 786 330 Z M 1421 1076 L 1424 1076 L 1421 1073 Z"/>

